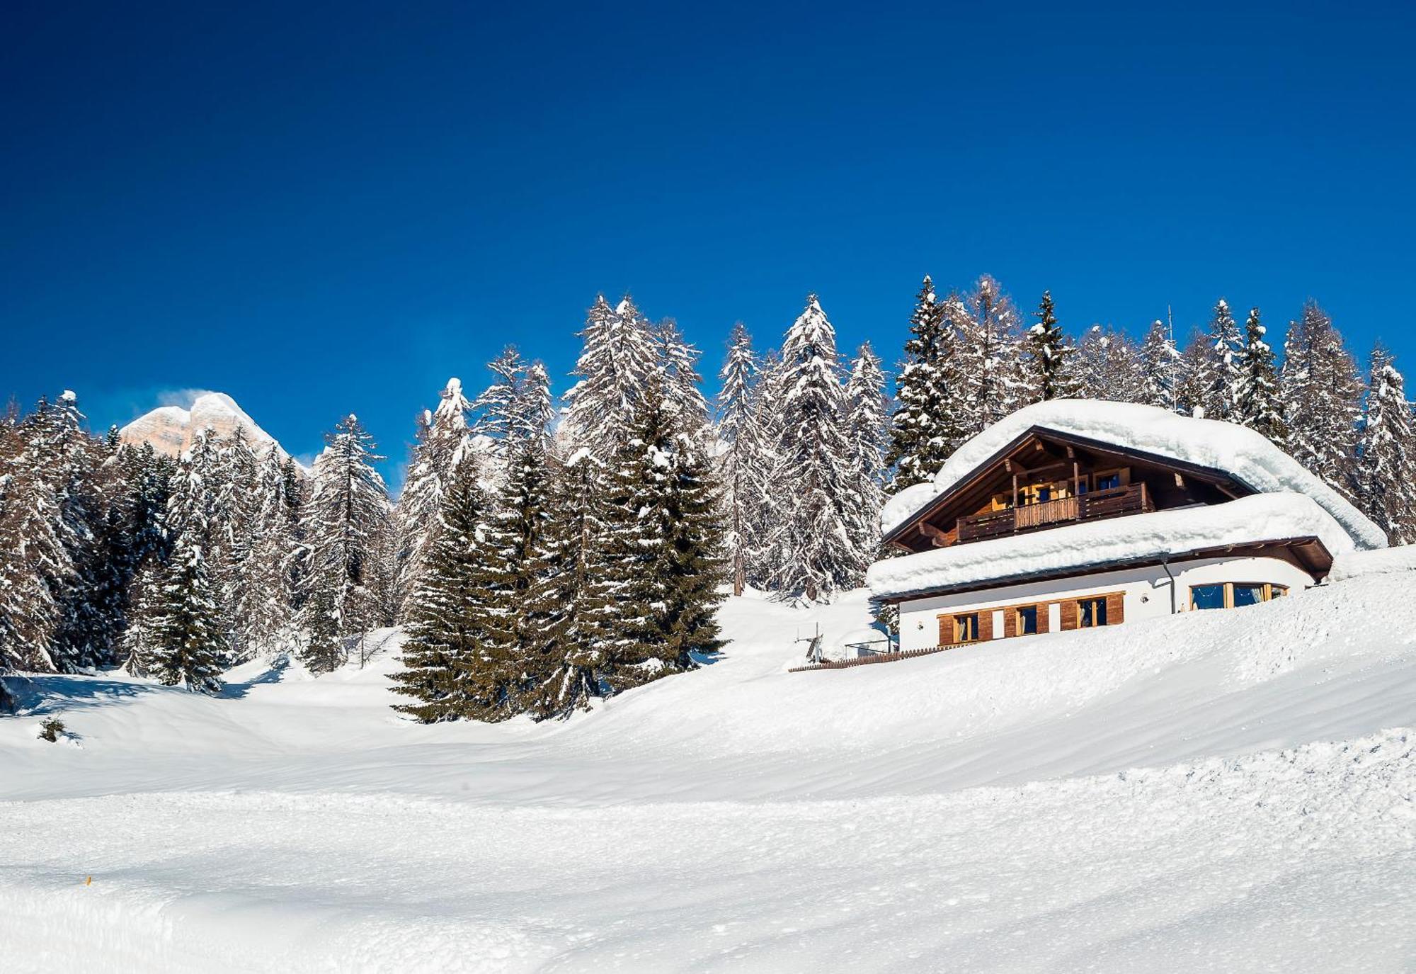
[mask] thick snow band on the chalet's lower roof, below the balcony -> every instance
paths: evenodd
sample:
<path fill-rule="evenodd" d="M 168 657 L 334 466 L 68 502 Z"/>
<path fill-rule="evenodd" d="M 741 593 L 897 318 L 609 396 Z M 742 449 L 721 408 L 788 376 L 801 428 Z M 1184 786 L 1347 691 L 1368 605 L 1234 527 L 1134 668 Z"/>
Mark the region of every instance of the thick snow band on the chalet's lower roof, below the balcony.
<path fill-rule="evenodd" d="M 1334 555 L 1354 549 L 1347 531 L 1310 497 L 1252 494 L 1223 504 L 1070 524 L 886 558 L 871 565 L 865 583 L 872 596 L 885 599 L 1252 541 L 1308 537 L 1318 538 Z"/>

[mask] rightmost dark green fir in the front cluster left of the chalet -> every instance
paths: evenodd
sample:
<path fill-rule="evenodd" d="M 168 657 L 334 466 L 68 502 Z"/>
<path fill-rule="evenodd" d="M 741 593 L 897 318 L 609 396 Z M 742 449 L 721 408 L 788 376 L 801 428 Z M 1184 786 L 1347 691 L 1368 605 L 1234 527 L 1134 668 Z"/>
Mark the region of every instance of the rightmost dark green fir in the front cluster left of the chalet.
<path fill-rule="evenodd" d="M 610 634 L 603 678 L 612 692 L 692 670 L 695 653 L 721 647 L 716 488 L 698 437 L 681 423 L 656 384 L 615 457 L 603 559 L 610 600 L 588 607 L 589 623 Z"/>

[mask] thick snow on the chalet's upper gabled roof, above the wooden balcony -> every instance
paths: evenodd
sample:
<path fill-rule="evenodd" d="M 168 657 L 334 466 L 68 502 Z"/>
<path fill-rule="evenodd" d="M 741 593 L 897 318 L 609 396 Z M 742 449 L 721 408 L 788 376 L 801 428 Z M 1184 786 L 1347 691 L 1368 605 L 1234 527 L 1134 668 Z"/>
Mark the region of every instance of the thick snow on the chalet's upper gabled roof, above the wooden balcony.
<path fill-rule="evenodd" d="M 892 497 L 881 511 L 881 529 L 888 534 L 908 521 L 1034 426 L 1222 470 L 1260 494 L 1304 494 L 1342 525 L 1357 548 L 1386 546 L 1381 528 L 1262 433 L 1155 406 L 1097 399 L 1052 399 L 998 420 L 960 446 L 933 484 L 916 484 Z"/>

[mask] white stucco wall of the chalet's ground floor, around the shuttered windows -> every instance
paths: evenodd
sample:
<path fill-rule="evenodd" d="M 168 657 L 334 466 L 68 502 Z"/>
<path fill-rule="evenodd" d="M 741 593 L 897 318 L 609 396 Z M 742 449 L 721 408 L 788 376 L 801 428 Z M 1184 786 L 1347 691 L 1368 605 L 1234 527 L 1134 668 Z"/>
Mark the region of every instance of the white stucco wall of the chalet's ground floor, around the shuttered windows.
<path fill-rule="evenodd" d="M 1216 582 L 1270 582 L 1289 586 L 1290 595 L 1313 585 L 1313 578 L 1281 558 L 1204 558 L 1174 562 L 1174 610 L 1189 609 L 1189 586 Z M 1171 613 L 1171 580 L 1161 566 L 1133 568 L 1119 572 L 1096 572 L 1052 582 L 1025 582 L 981 592 L 909 599 L 899 606 L 899 648 L 920 650 L 939 643 L 939 616 L 963 612 L 998 610 L 1004 606 L 1054 599 L 1079 599 L 1087 595 L 1123 592 L 1126 621 L 1168 616 Z M 1003 638 L 1003 613 L 994 614 L 994 638 Z M 1061 629 L 1058 606 L 1049 612 L 1048 631 Z"/>

